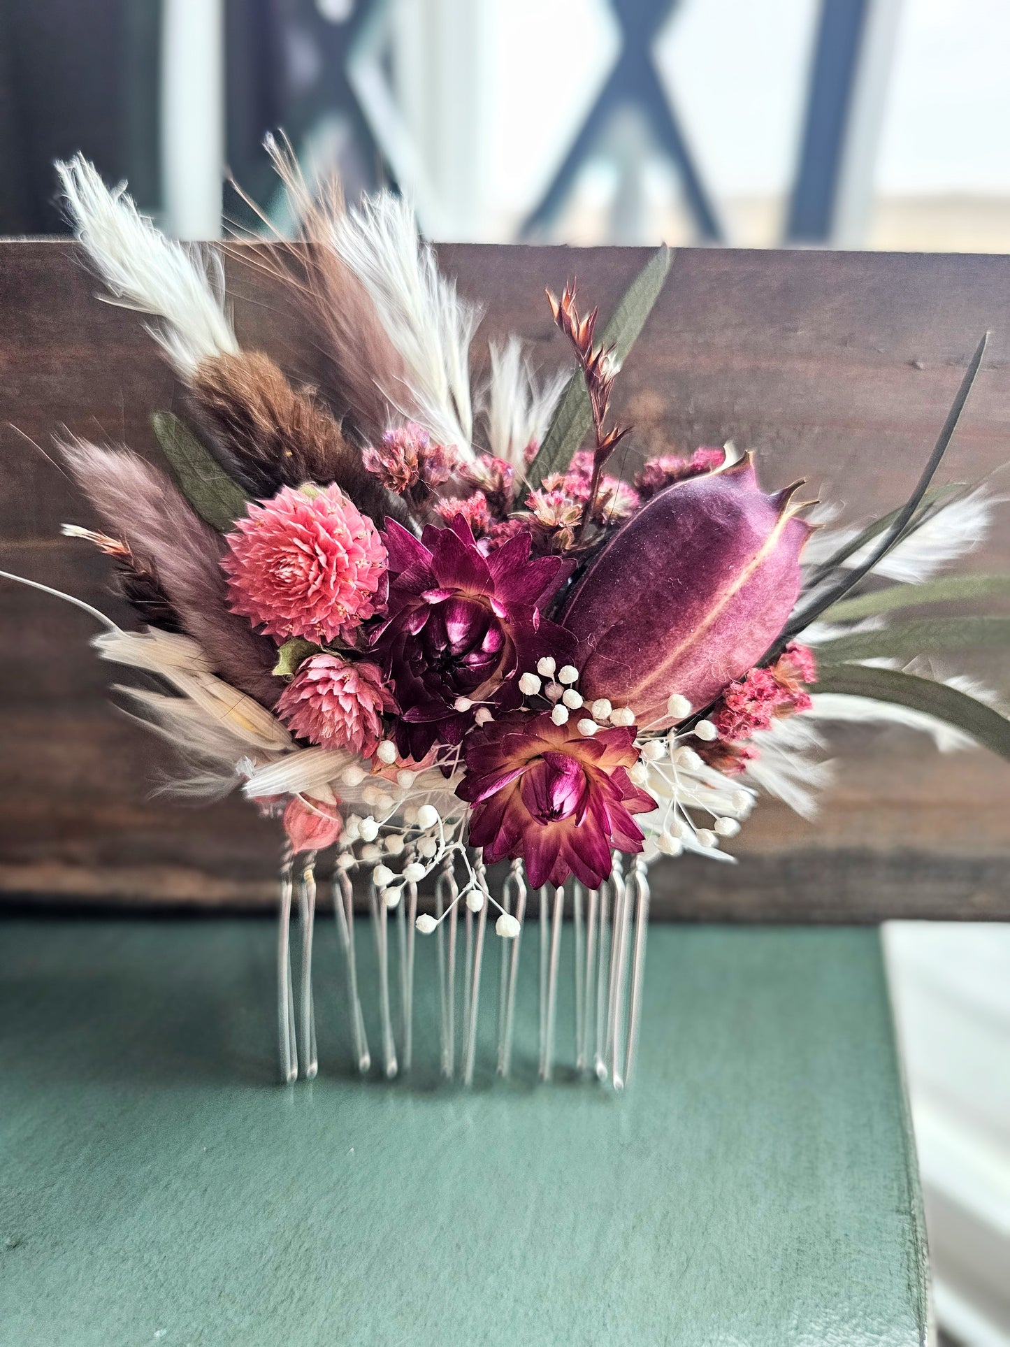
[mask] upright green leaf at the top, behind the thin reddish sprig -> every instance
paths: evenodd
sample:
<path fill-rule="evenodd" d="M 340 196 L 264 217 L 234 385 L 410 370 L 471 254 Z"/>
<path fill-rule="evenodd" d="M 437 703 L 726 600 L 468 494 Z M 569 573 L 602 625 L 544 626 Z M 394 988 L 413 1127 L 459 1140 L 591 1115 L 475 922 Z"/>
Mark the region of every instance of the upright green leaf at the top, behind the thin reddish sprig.
<path fill-rule="evenodd" d="M 672 261 L 673 253 L 665 245 L 653 253 L 606 325 L 601 341 L 603 346 L 614 348 L 621 364 L 628 360 L 638 333 L 645 326 L 645 319 L 667 282 Z M 551 473 L 564 471 L 591 426 L 588 393 L 582 380 L 582 370 L 576 369 L 566 385 L 540 451 L 529 465 L 527 478 L 531 489 L 536 490 Z"/>

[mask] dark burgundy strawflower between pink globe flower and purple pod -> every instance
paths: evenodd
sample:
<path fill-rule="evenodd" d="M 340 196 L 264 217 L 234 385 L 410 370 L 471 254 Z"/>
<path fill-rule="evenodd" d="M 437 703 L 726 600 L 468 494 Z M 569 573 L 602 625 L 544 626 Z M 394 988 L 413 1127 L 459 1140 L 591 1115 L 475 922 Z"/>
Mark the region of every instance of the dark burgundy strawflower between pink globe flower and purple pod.
<path fill-rule="evenodd" d="M 572 641 L 543 617 L 543 606 L 571 574 L 559 556 L 529 558 L 529 532 L 485 556 L 462 515 L 448 528 L 428 525 L 420 540 L 389 520 L 389 603 L 374 651 L 400 707 L 396 742 L 420 761 L 432 744 L 459 744 L 474 709 L 457 702 L 521 700 L 517 675 L 544 655 L 568 661 Z"/>

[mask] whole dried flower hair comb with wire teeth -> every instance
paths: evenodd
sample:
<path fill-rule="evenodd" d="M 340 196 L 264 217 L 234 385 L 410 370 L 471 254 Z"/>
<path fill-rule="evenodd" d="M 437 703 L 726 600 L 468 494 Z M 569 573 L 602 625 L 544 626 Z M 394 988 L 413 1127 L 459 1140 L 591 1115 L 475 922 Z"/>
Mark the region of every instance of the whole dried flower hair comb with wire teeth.
<path fill-rule="evenodd" d="M 540 1075 L 553 1070 L 568 908 L 575 1065 L 621 1087 L 654 857 L 729 859 L 722 845 L 761 793 L 809 814 L 827 781 L 826 722 L 897 721 L 941 749 L 1010 757 L 994 699 L 917 663 L 1006 620 L 889 621 L 1010 587 L 933 579 L 978 541 L 995 502 L 983 485 L 932 485 L 984 338 L 914 492 L 862 529 L 815 532 L 800 484 L 766 494 L 731 446 L 652 458 L 629 484 L 607 473 L 629 432 L 610 422 L 610 396 L 665 283 L 665 249 L 601 337 L 574 283 L 548 292 L 574 373 L 539 384 L 518 339 L 492 345 L 478 399 L 478 311 L 439 273 L 409 207 L 388 193 L 354 210 L 335 190 L 310 199 L 271 148 L 310 245 L 283 267 L 329 361 L 327 401 L 238 346 L 215 253 L 163 238 L 83 159 L 59 166 L 81 244 L 108 296 L 152 317 L 190 423 L 155 415 L 170 473 L 125 449 L 61 445 L 108 531 L 65 532 L 110 558 L 141 624 L 123 630 L 88 607 L 104 628 L 93 644 L 160 682 L 124 691 L 179 749 L 179 791 L 240 787 L 283 818 L 285 1080 L 299 1060 L 316 1071 L 315 867 L 329 851 L 361 1071 L 373 998 L 385 1075 L 411 1064 L 420 932 L 438 942 L 442 1071 L 473 1079 L 490 912 L 497 1070 L 509 1074 L 539 889 Z M 896 583 L 863 586 L 871 575 Z M 354 876 L 374 985 L 358 968 Z M 422 897 L 424 881 L 434 892 Z"/>

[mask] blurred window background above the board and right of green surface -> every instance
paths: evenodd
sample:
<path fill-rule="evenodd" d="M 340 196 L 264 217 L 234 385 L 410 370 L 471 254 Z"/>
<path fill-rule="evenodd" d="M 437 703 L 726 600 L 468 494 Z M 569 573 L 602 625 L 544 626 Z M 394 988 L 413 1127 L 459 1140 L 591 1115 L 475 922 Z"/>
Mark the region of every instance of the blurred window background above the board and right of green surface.
<path fill-rule="evenodd" d="M 0 0 L 0 233 L 82 150 L 179 237 L 263 137 L 438 240 L 1010 249 L 1007 0 Z M 945 1331 L 1010 1344 L 1010 931 L 894 925 Z"/>

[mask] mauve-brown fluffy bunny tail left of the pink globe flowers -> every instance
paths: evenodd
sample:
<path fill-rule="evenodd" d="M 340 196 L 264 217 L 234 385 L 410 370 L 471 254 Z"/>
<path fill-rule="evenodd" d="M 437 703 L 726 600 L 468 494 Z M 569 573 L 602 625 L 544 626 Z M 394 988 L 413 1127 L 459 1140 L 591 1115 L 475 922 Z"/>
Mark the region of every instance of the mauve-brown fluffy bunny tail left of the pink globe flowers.
<path fill-rule="evenodd" d="M 272 707 L 284 690 L 277 652 L 228 606 L 225 543 L 159 469 L 125 449 L 59 446 L 81 490 L 143 571 L 156 575 L 184 632 L 233 687 Z"/>

